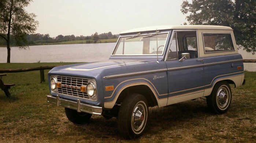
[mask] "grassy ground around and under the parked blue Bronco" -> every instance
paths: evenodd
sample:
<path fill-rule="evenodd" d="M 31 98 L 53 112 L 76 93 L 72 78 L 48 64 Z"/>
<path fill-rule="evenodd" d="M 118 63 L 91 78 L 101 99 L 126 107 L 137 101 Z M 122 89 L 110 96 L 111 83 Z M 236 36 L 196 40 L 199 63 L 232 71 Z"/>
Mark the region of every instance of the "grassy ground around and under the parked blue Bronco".
<path fill-rule="evenodd" d="M 71 63 L 0 63 L 0 68 L 57 64 Z M 226 114 L 212 114 L 203 99 L 149 108 L 146 131 L 135 140 L 119 135 L 115 118 L 93 115 L 89 124 L 69 122 L 64 108 L 46 102 L 48 83 L 39 83 L 39 71 L 7 74 L 4 83 L 16 85 L 11 98 L 0 90 L 0 142 L 256 142 L 256 72 L 245 72 L 244 86 L 231 86 Z"/>

